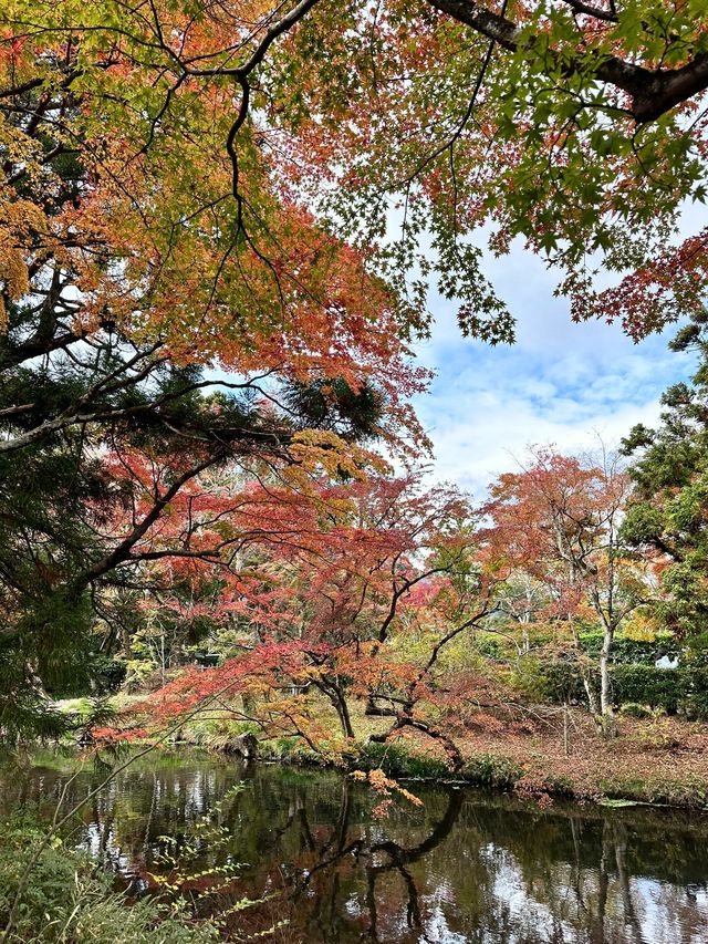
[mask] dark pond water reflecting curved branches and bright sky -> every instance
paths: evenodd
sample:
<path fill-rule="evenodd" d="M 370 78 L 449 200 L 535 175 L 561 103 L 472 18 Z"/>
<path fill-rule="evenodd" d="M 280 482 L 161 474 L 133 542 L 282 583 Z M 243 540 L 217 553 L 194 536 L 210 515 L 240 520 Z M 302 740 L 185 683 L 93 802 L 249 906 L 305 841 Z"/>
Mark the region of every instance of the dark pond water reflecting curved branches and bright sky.
<path fill-rule="evenodd" d="M 0 807 L 39 802 L 50 816 L 69 776 L 0 771 Z M 66 802 L 92 782 L 80 774 Z M 192 871 L 243 863 L 211 904 L 268 896 L 235 926 L 287 920 L 278 942 L 708 944 L 708 817 L 414 789 L 421 809 L 397 805 L 377 821 L 367 788 L 339 774 L 164 758 L 119 775 L 74 837 L 135 893 L 165 872 L 164 837 L 196 848 Z M 190 838 L 215 803 L 222 841 Z"/>

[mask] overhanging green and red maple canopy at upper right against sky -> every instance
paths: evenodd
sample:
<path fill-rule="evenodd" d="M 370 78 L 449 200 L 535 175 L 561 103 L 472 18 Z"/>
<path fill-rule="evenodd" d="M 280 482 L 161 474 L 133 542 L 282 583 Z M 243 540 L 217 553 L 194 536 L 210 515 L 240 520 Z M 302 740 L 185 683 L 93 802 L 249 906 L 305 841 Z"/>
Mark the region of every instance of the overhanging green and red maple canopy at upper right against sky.
<path fill-rule="evenodd" d="M 677 229 L 706 196 L 701 0 L 322 3 L 284 49 L 267 87 L 302 185 L 465 331 L 512 339 L 482 247 L 517 238 L 575 320 L 639 338 L 700 307 L 705 221 Z"/>

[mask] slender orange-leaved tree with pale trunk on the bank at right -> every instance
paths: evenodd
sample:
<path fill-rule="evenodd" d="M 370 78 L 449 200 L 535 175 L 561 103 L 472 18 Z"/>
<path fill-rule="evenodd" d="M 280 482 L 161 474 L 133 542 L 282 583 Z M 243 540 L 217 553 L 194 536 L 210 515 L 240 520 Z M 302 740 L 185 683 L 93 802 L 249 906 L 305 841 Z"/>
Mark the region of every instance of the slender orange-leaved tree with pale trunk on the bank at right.
<path fill-rule="evenodd" d="M 487 506 L 490 566 L 512 575 L 520 570 L 549 593 L 545 614 L 566 625 L 580 646 L 579 620 L 592 613 L 600 624 L 600 701 L 587 668 L 583 683 L 590 709 L 612 730 L 610 658 L 615 634 L 647 595 L 641 561 L 622 541 L 620 528 L 631 483 L 616 454 L 601 464 L 548 449 L 531 454 L 519 473 L 500 476 Z M 581 663 L 582 666 L 582 663 Z"/>

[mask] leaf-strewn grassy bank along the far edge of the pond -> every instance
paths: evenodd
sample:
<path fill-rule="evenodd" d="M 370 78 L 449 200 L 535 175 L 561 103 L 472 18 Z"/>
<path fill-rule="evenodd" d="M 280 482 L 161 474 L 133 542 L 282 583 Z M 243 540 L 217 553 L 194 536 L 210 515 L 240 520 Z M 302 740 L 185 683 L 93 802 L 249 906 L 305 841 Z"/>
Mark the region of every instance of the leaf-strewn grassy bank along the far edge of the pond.
<path fill-rule="evenodd" d="M 294 764 L 326 764 L 327 756 L 337 757 L 350 769 L 381 767 L 398 779 L 457 780 L 523 796 L 708 809 L 708 726 L 701 723 L 622 716 L 617 737 L 604 739 L 581 709 L 565 717 L 543 707 L 521 718 L 478 715 L 455 734 L 465 765 L 452 772 L 429 739 L 414 735 L 371 743 L 368 736 L 385 729 L 386 720 L 366 718 L 362 706 L 355 706 L 353 717 L 360 737 L 344 749 L 333 741 L 330 755 L 327 745 L 324 755 L 316 755 L 294 737 L 261 739 L 260 756 Z M 181 734 L 190 744 L 228 753 L 248 729 L 225 716 Z"/>

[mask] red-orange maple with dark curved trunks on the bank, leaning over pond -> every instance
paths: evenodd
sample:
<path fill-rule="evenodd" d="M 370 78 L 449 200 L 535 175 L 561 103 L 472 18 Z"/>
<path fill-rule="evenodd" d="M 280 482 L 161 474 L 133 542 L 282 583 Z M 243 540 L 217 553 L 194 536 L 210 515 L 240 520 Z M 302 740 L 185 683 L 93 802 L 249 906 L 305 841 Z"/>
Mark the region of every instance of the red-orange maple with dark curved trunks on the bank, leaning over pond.
<path fill-rule="evenodd" d="M 231 652 L 227 644 L 222 665 L 190 670 L 160 689 L 148 714 L 159 705 L 164 720 L 226 686 L 241 696 L 233 717 L 258 723 L 270 737 L 294 732 L 321 749 L 336 738 L 317 718 L 310 696 L 319 693 L 345 739 L 355 737 L 350 703 L 357 699 L 367 714 L 392 718 L 384 737 L 418 730 L 461 763 L 449 737 L 426 719 L 425 705 L 437 697 L 434 670 L 444 647 L 491 605 L 472 562 L 464 496 L 425 489 L 416 477 L 369 476 L 324 480 L 308 495 L 271 484 L 211 498 L 201 489 L 194 501 L 181 500 L 190 504 L 194 528 L 186 566 L 198 562 L 197 579 L 205 568 L 219 574 L 210 614 L 230 624 Z M 179 551 L 159 550 L 170 540 L 166 528 L 174 523 L 162 522 L 144 557 L 169 554 L 167 593 Z M 415 658 L 406 654 L 413 639 Z"/>

